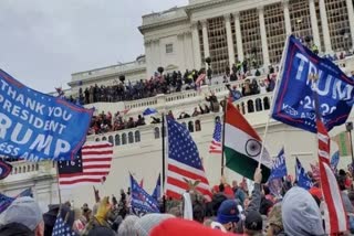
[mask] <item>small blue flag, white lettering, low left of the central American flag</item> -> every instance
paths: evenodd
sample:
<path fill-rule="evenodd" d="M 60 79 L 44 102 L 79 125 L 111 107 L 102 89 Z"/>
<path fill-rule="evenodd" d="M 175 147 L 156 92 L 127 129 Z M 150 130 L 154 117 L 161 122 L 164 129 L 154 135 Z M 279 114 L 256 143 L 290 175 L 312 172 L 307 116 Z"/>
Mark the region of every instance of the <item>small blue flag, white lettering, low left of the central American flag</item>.
<path fill-rule="evenodd" d="M 146 213 L 159 213 L 157 201 L 140 187 L 131 174 L 131 205 L 132 211 L 136 215 L 144 215 Z"/>

